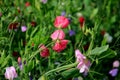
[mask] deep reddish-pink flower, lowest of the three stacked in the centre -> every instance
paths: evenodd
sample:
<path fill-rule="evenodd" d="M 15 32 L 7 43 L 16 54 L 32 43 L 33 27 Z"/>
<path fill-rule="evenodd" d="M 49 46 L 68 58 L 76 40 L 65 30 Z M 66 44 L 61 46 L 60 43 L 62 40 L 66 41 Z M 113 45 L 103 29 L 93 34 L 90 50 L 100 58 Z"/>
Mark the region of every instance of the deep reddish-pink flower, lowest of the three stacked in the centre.
<path fill-rule="evenodd" d="M 68 40 L 56 41 L 55 45 L 53 46 L 53 50 L 55 50 L 56 52 L 61 52 L 66 48 L 67 44 L 68 44 Z"/>

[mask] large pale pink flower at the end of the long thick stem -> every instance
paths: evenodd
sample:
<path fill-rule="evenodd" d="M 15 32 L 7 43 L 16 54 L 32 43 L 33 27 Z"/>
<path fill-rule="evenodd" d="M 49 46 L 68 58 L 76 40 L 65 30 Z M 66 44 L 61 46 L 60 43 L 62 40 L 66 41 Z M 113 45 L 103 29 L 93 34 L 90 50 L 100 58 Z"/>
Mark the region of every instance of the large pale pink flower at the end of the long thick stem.
<path fill-rule="evenodd" d="M 75 57 L 77 58 L 77 68 L 80 73 L 87 73 L 90 67 L 90 61 L 77 49 L 75 50 Z"/>

